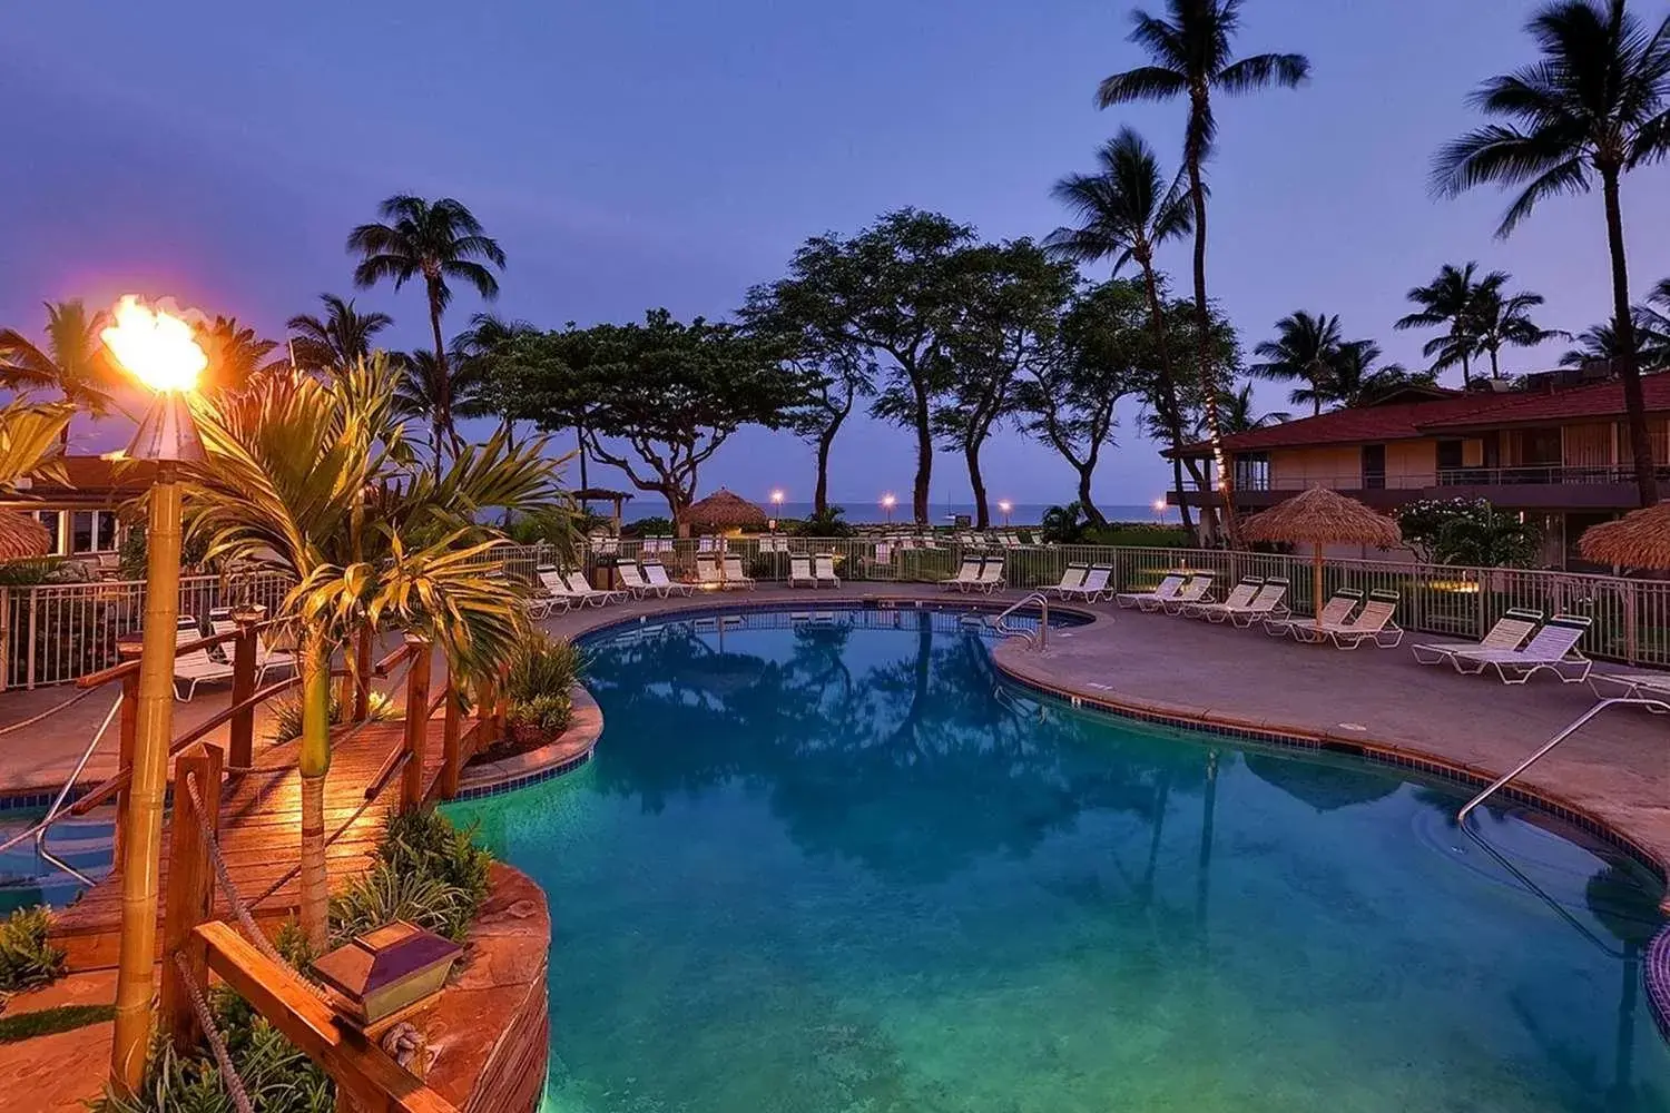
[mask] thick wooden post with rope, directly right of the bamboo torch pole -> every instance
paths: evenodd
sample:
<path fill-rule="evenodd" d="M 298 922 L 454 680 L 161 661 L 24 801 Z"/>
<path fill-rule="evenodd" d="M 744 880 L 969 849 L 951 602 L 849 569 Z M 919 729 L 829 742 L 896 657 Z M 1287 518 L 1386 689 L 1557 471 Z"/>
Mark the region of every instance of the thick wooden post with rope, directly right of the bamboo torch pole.
<path fill-rule="evenodd" d="M 209 861 L 209 831 L 220 829 L 220 748 L 204 746 L 182 754 L 174 763 L 174 823 L 169 828 L 169 891 L 162 918 L 162 1031 L 180 1051 L 202 1041 L 202 1026 L 192 1010 L 190 990 L 174 964 L 174 953 L 184 951 L 199 986 L 209 985 L 209 966 L 204 943 L 195 934 L 197 924 L 209 919 L 214 909 L 214 864 Z M 204 801 L 204 824 L 197 823 L 187 778 L 195 778 L 197 794 Z"/>

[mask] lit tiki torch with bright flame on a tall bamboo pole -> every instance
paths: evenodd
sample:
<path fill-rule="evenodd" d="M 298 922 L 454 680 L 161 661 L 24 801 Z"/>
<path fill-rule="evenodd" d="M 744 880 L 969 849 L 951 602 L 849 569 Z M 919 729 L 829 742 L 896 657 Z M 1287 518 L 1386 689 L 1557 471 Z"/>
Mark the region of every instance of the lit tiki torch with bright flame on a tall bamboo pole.
<path fill-rule="evenodd" d="M 157 958 L 157 873 L 162 863 L 162 796 L 174 736 L 174 646 L 180 609 L 179 466 L 204 459 L 185 395 L 209 357 L 192 327 L 135 297 L 115 307 L 115 324 L 100 337 L 115 360 L 155 392 L 127 456 L 157 466 L 145 527 L 145 622 L 139 657 L 137 729 L 129 783 L 129 829 L 122 846 L 122 949 L 115 983 L 115 1040 L 110 1078 L 119 1091 L 137 1093 L 145 1075 L 152 1028 L 152 963 Z M 219 791 L 209 786 L 207 791 Z M 175 801 L 179 806 L 179 801 Z M 167 961 L 167 956 L 164 956 Z"/>

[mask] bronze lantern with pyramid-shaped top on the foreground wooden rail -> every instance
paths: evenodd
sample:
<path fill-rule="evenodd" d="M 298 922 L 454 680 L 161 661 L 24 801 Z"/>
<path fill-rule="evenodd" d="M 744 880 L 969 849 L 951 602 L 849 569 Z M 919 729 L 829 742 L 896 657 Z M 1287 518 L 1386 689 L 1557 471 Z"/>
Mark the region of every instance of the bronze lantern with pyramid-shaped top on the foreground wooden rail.
<path fill-rule="evenodd" d="M 464 948 L 402 919 L 367 931 L 314 963 L 331 1005 L 364 1028 L 438 993 Z"/>

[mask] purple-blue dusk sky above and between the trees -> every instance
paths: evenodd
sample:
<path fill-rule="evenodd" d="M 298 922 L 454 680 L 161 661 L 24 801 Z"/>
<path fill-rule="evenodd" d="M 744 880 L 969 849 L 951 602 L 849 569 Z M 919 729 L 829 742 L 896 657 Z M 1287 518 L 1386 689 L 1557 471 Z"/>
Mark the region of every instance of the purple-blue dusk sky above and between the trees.
<path fill-rule="evenodd" d="M 1157 7 L 1157 5 L 1156 5 Z M 1478 122 L 1466 93 L 1531 58 L 1511 0 L 1247 0 L 1241 53 L 1296 50 L 1313 80 L 1219 105 L 1209 287 L 1242 344 L 1296 309 L 1418 365 L 1394 334 L 1409 285 L 1478 259 L 1548 297 L 1573 332 L 1608 312 L 1598 195 L 1545 205 L 1511 240 L 1495 190 L 1433 200 L 1433 150 Z M 1662 3 L 1638 3 L 1658 18 Z M 15 5 L 0 43 L 5 214 L 0 324 L 30 335 L 43 299 L 174 295 L 282 337 L 317 294 L 354 294 L 347 230 L 396 192 L 469 205 L 509 255 L 494 307 L 558 327 L 646 307 L 725 315 L 793 249 L 917 205 L 990 239 L 1062 220 L 1062 174 L 1136 125 L 1176 165 L 1182 105 L 1097 112 L 1096 83 L 1142 62 L 1124 0 L 356 0 Z M 1670 274 L 1665 172 L 1625 182 L 1637 295 Z M 1162 265 L 1187 287 L 1187 249 Z M 1106 270 L 1094 277 L 1106 277 Z M 419 287 L 357 294 L 426 344 Z M 449 330 L 478 309 L 459 295 Z M 1551 365 L 1561 344 L 1506 354 Z M 1259 387 L 1281 409 L 1286 387 Z M 1147 502 L 1166 469 L 1122 407 L 1099 501 Z M 125 436 L 78 439 L 92 451 Z M 855 422 L 832 494 L 908 492 L 912 442 Z M 606 471 L 593 481 L 615 481 Z M 1012 432 L 987 452 L 994 497 L 1064 502 L 1072 472 Z M 812 452 L 745 431 L 703 492 L 808 499 Z M 959 459 L 937 502 L 964 499 Z"/>

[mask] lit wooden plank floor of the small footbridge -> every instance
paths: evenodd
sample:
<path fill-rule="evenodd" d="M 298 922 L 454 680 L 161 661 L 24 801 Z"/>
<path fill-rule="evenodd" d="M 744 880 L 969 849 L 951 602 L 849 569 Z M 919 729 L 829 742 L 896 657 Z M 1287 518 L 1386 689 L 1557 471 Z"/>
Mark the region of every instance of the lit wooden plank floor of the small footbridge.
<path fill-rule="evenodd" d="M 424 799 L 436 796 L 443 764 L 443 718 L 428 723 L 424 744 Z M 466 724 L 466 731 L 474 729 Z M 346 731 L 347 728 L 342 728 Z M 366 786 L 382 769 L 384 761 L 401 746 L 404 721 L 372 723 L 347 743 L 332 749 L 331 773 L 326 778 L 326 834 L 334 834 L 354 811 L 366 803 Z M 296 773 L 297 743 L 271 746 L 256 756 L 261 769 L 282 768 L 282 773 L 249 773 L 229 779 L 220 793 L 220 849 L 232 881 L 245 901 L 256 899 L 281 876 L 294 869 L 301 856 L 301 774 Z M 371 851 L 384 816 L 397 806 L 401 794 L 399 774 L 391 776 L 377 798 L 342 831 L 326 849 L 331 886 L 357 876 L 371 864 Z M 162 898 L 157 901 L 159 921 L 167 908 L 169 846 L 175 809 L 170 806 L 162 833 Z M 296 914 L 301 899 L 297 878 L 286 881 L 272 896 L 256 906 L 256 918 L 264 926 L 282 923 Z M 215 916 L 230 918 L 224 894 L 215 893 Z M 72 971 L 115 966 L 122 918 L 122 881 L 114 871 L 104 881 L 87 889 L 82 898 L 63 909 L 53 923 L 53 941 L 67 951 Z M 162 938 L 159 926 L 157 938 Z"/>

